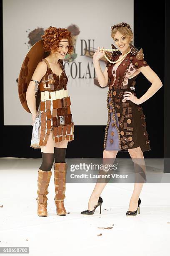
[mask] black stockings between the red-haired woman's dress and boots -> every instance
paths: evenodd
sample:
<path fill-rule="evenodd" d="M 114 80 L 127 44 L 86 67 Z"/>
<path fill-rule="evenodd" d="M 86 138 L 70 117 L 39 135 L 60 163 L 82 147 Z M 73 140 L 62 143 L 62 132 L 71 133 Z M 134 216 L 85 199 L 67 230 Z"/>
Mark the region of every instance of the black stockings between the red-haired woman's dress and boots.
<path fill-rule="evenodd" d="M 67 148 L 54 148 L 53 153 L 43 153 L 42 154 L 42 164 L 40 166 L 40 170 L 42 171 L 50 171 L 52 169 L 52 165 L 54 163 L 65 163 L 65 154 Z"/>

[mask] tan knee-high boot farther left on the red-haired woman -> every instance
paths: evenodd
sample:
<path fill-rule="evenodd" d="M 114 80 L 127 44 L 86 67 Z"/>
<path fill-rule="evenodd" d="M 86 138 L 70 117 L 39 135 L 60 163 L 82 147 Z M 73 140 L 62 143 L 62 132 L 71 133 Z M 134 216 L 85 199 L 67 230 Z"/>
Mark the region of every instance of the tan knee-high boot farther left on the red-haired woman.
<path fill-rule="evenodd" d="M 47 194 L 48 194 L 48 185 L 50 183 L 52 172 L 50 171 L 42 171 L 39 169 L 38 171 L 38 190 L 37 190 L 37 215 L 40 217 L 47 217 Z"/>

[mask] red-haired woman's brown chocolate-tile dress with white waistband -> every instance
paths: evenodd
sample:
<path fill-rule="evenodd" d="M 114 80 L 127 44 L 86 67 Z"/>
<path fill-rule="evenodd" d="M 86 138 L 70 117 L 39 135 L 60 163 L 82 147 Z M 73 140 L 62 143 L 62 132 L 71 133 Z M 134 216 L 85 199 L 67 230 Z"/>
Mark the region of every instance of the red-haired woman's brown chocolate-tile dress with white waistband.
<path fill-rule="evenodd" d="M 32 128 L 32 148 L 45 146 L 50 132 L 55 142 L 74 140 L 74 123 L 70 111 L 70 97 L 67 95 L 67 76 L 64 67 L 62 74 L 57 76 L 50 69 L 46 59 L 47 72 L 39 84 L 36 84 L 35 95 L 40 93 L 40 105 Z"/>

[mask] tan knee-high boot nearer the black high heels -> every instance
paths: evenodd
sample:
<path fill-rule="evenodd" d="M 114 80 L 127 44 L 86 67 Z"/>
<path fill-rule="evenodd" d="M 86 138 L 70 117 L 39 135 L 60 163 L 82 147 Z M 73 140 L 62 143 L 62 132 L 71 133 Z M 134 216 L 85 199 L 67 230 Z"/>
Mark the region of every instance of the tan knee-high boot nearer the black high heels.
<path fill-rule="evenodd" d="M 57 215 L 65 216 L 66 210 L 64 207 L 65 199 L 65 178 L 66 178 L 66 163 L 55 163 L 54 165 L 54 184 L 55 184 L 55 206 Z"/>

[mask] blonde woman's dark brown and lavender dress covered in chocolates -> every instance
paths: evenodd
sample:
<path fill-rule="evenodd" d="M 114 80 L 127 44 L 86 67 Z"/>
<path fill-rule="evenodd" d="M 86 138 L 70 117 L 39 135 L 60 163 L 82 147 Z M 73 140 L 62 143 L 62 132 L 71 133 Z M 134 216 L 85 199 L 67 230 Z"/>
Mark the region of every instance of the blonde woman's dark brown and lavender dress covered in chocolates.
<path fill-rule="evenodd" d="M 133 46 L 133 51 L 117 67 L 109 61 L 106 62 L 109 91 L 107 94 L 108 121 L 103 143 L 105 150 L 128 151 L 130 148 L 139 146 L 143 152 L 150 150 L 142 107 L 123 99 L 125 91 L 132 92 L 136 96 L 135 80 L 138 75 L 134 76 L 133 73 L 140 67 L 148 65 L 143 59 L 143 51 L 134 49 Z M 120 54 L 112 56 L 112 61 L 116 61 L 119 56 Z"/>

